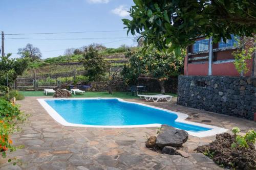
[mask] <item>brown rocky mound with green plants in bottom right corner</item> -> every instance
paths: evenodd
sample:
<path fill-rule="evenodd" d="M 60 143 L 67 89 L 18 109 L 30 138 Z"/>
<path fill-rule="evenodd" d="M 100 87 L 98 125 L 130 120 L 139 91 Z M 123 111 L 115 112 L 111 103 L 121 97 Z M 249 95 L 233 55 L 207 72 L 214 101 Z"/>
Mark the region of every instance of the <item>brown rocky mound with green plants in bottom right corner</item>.
<path fill-rule="evenodd" d="M 217 134 L 216 140 L 199 146 L 196 151 L 203 153 L 217 164 L 228 169 L 256 169 L 256 133 L 248 131 L 245 136 L 238 135 L 240 129 L 234 127 L 232 134 Z"/>

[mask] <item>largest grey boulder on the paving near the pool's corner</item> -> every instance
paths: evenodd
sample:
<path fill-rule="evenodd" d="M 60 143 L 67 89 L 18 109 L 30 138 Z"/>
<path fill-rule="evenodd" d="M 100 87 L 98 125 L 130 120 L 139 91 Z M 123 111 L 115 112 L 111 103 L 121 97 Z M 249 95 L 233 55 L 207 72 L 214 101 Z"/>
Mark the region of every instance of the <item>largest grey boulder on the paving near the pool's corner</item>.
<path fill-rule="evenodd" d="M 168 125 L 162 125 L 157 136 L 156 145 L 160 148 L 165 146 L 181 147 L 187 141 L 188 133 Z"/>

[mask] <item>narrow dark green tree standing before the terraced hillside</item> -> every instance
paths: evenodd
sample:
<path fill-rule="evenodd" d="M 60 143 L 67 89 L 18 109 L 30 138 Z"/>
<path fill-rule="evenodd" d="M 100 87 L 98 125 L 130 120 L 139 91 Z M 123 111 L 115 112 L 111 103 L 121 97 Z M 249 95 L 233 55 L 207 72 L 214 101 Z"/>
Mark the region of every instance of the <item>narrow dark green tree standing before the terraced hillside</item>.
<path fill-rule="evenodd" d="M 102 55 L 98 54 L 98 50 L 91 45 L 83 54 L 83 66 L 86 70 L 85 76 L 89 77 L 89 81 L 97 81 L 105 75 L 107 63 Z"/>

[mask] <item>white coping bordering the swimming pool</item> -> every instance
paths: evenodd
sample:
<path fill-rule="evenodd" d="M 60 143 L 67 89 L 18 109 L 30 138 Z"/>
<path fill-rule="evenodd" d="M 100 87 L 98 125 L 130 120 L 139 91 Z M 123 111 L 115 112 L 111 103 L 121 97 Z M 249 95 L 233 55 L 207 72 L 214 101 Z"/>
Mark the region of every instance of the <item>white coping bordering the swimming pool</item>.
<path fill-rule="evenodd" d="M 44 99 L 37 99 L 37 101 L 40 103 L 40 105 L 42 107 L 44 107 L 44 109 L 48 112 L 48 114 L 54 120 L 56 120 L 56 122 L 58 122 L 59 124 L 61 124 L 63 126 L 89 127 L 89 128 L 145 128 L 145 127 L 160 127 L 161 126 L 161 124 L 123 125 L 123 126 L 98 126 L 98 125 L 72 124 L 72 123 L 68 123 L 62 116 L 60 116 L 58 114 L 58 112 L 56 112 L 45 101 L 45 100 L 93 100 L 93 99 L 98 99 L 98 100 L 99 99 L 104 99 L 104 100 L 107 100 L 107 99 L 117 99 L 119 102 L 133 103 L 133 104 L 137 104 L 137 105 L 151 107 L 151 108 L 155 108 L 155 109 L 159 109 L 159 110 L 163 110 L 163 111 L 166 111 L 166 112 L 169 112 L 169 113 L 176 114 L 178 117 L 175 120 L 175 122 L 185 123 L 185 124 L 195 125 L 195 126 L 200 126 L 200 127 L 203 127 L 203 128 L 210 128 L 210 130 L 207 130 L 207 131 L 199 131 L 199 132 L 186 131 L 189 135 L 196 136 L 196 137 L 213 136 L 213 135 L 216 135 L 216 134 L 219 134 L 219 133 L 224 133 L 224 132 L 228 131 L 228 129 L 219 128 L 219 127 L 216 127 L 216 126 L 211 126 L 211 125 L 205 125 L 205 124 L 200 124 L 200 123 L 186 121 L 185 119 L 188 117 L 188 115 L 184 114 L 184 113 L 181 113 L 181 112 L 167 110 L 167 109 L 163 109 L 163 108 L 159 108 L 159 107 L 155 107 L 155 106 L 151 106 L 151 105 L 146 105 L 146 104 L 142 104 L 142 103 L 128 102 L 128 101 L 124 101 L 124 100 L 119 99 L 119 98 L 72 98 L 72 99 L 71 98 L 57 98 L 57 99 L 53 99 L 53 98 L 47 99 L 47 98 L 44 98 Z"/>

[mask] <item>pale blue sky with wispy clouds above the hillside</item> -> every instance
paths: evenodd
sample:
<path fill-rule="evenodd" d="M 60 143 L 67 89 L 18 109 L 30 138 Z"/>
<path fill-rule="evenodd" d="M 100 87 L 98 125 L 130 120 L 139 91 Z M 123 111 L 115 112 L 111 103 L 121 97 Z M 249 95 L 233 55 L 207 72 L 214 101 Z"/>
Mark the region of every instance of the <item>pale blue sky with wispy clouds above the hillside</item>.
<path fill-rule="evenodd" d="M 5 33 L 5 54 L 12 53 L 12 57 L 19 57 L 15 53 L 27 43 L 40 49 L 42 59 L 57 57 L 63 55 L 67 48 L 91 43 L 114 48 L 121 44 L 134 46 L 136 42 L 131 34 L 127 36 L 121 20 L 130 18 L 127 10 L 132 5 L 132 0 L 1 0 L 0 31 Z M 56 32 L 87 33 L 7 35 Z"/>

